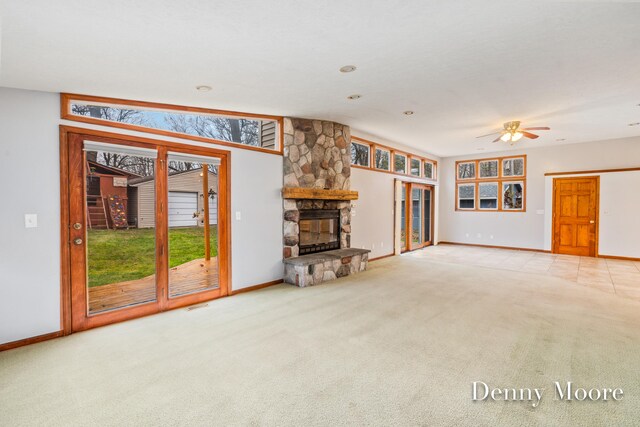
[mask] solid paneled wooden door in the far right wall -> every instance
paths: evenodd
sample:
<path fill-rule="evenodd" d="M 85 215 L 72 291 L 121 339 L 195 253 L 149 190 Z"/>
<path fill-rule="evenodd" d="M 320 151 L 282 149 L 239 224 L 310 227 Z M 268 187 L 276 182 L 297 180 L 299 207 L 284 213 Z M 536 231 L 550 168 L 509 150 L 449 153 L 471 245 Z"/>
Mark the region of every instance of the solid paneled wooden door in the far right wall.
<path fill-rule="evenodd" d="M 599 177 L 553 181 L 553 252 L 597 256 Z"/>

